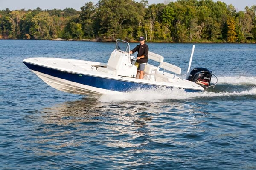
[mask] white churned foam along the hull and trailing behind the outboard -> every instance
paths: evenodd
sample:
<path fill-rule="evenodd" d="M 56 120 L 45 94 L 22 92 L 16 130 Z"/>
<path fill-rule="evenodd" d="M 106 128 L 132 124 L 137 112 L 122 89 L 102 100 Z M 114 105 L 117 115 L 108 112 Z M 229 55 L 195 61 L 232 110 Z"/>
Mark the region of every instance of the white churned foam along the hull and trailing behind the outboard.
<path fill-rule="evenodd" d="M 101 102 L 122 102 L 122 101 L 144 101 L 144 102 L 161 102 L 163 100 L 185 100 L 195 98 L 213 98 L 221 96 L 243 96 L 243 95 L 256 95 L 256 77 L 219 77 L 218 84 L 229 84 L 229 85 L 251 85 L 250 89 L 244 91 L 233 91 L 233 92 L 198 92 L 189 93 L 182 89 L 154 89 L 145 90 L 138 89 L 130 93 L 122 95 L 103 95 L 99 98 Z M 218 85 L 216 85 L 217 88 Z"/>

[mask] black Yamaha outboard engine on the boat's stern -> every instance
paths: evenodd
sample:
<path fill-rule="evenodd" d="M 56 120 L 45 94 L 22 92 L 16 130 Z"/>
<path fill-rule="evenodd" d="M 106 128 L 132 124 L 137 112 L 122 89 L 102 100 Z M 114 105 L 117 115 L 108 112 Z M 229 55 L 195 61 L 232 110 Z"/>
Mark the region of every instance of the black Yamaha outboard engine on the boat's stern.
<path fill-rule="evenodd" d="M 203 88 L 207 88 L 210 86 L 212 75 L 212 71 L 209 69 L 197 67 L 190 71 L 187 80 L 195 82 Z"/>

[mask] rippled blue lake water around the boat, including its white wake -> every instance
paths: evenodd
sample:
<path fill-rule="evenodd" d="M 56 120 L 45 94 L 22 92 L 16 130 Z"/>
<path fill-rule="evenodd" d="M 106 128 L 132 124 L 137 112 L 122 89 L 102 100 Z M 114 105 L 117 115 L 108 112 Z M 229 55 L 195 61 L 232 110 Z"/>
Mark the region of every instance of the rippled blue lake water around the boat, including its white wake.
<path fill-rule="evenodd" d="M 191 68 L 209 68 L 218 85 L 192 94 L 68 94 L 22 63 L 107 62 L 114 45 L 0 40 L 1 170 L 256 170 L 255 44 L 195 44 Z M 148 45 L 186 75 L 192 44 Z"/>

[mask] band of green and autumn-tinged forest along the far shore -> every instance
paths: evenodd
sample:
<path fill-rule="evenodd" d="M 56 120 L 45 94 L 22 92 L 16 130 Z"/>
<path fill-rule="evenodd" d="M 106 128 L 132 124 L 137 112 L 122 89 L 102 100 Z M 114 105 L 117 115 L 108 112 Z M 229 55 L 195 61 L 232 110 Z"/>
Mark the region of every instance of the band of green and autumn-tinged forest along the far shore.
<path fill-rule="evenodd" d="M 0 11 L 0 39 L 90 39 L 129 42 L 256 43 L 256 5 L 244 11 L 212 0 L 177 0 L 149 5 L 147 0 L 99 0 L 81 11 Z"/>

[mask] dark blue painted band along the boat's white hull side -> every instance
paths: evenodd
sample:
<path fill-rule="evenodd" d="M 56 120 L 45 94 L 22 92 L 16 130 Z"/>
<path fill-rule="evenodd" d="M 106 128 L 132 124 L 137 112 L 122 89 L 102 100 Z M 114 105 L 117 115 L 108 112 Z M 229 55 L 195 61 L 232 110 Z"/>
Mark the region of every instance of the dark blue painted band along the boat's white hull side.
<path fill-rule="evenodd" d="M 119 92 L 128 92 L 135 90 L 137 88 L 142 89 L 154 89 L 159 88 L 159 85 L 150 85 L 138 82 L 129 82 L 119 79 L 110 79 L 105 77 L 97 77 L 86 74 L 78 74 L 72 73 L 68 71 L 61 71 L 54 68 L 48 68 L 41 65 L 35 65 L 28 62 L 24 62 L 24 64 L 31 70 L 38 71 L 44 74 L 51 75 L 53 77 L 58 77 L 61 79 L 66 79 L 71 82 L 76 82 L 83 85 L 88 85 L 96 88 L 102 88 L 111 91 L 119 91 Z M 172 88 L 172 87 L 166 87 Z M 198 92 L 198 90 L 185 89 L 187 92 Z"/>

